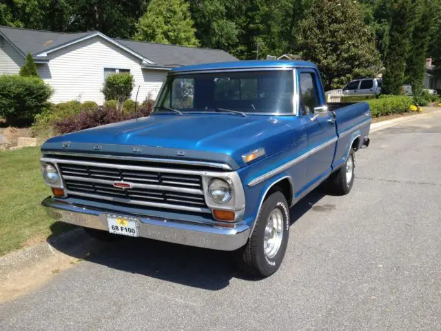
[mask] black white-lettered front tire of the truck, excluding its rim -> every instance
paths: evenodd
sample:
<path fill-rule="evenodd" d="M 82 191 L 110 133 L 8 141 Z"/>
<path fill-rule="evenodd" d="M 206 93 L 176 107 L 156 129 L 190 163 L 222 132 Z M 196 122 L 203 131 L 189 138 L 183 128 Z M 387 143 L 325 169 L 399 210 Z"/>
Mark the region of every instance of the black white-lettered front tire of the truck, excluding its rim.
<path fill-rule="evenodd" d="M 264 252 L 265 228 L 269 214 L 279 209 L 283 216 L 283 235 L 280 248 L 274 257 L 268 258 Z M 289 208 L 282 192 L 271 194 L 263 202 L 256 220 L 256 226 L 247 244 L 236 251 L 236 263 L 240 270 L 258 277 L 268 277 L 280 267 L 289 239 Z"/>

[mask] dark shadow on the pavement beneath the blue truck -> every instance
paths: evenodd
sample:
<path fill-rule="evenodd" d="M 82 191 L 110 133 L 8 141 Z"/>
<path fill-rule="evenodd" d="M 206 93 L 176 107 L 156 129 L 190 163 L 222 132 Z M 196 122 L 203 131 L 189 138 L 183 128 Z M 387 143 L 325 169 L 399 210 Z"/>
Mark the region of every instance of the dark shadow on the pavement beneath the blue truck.
<path fill-rule="evenodd" d="M 291 225 L 324 196 L 321 190 L 314 190 L 296 203 L 295 208 L 291 209 Z M 55 230 L 59 226 L 59 223 L 54 223 L 52 228 Z M 205 290 L 221 290 L 229 285 L 229 280 L 233 277 L 258 280 L 236 269 L 232 263 L 232 252 L 143 238 L 121 237 L 121 240 L 112 243 L 102 243 L 88 237 L 81 229 L 75 231 L 79 234 L 71 241 L 77 243 L 76 246 L 89 245 L 88 250 L 78 250 L 78 247 L 66 245 L 65 241 L 51 240 L 51 237 L 48 238 L 48 243 L 77 259 Z"/>

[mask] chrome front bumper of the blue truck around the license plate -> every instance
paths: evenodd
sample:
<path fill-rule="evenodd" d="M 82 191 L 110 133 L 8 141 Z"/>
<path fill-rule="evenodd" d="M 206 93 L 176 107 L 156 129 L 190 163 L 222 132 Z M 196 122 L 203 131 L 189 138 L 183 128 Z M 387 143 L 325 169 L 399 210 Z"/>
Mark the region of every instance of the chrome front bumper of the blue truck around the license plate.
<path fill-rule="evenodd" d="M 105 214 L 115 214 L 113 211 L 72 205 L 52 197 L 44 199 L 41 205 L 45 207 L 48 215 L 56 221 L 105 231 L 108 230 Z M 140 220 L 139 237 L 212 250 L 236 250 L 247 243 L 250 231 L 247 225 L 239 225 L 236 228 L 215 228 L 209 225 L 182 223 L 170 219 L 122 215 L 136 217 Z"/>

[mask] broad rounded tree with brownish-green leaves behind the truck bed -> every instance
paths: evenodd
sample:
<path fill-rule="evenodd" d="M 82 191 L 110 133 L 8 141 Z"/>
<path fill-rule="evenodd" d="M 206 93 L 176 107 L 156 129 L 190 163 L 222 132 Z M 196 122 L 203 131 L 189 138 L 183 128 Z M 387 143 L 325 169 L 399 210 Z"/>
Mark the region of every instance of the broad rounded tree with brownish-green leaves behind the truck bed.
<path fill-rule="evenodd" d="M 319 66 L 325 89 L 341 88 L 360 77 L 374 77 L 380 68 L 375 38 L 358 3 L 314 0 L 299 23 L 302 57 Z"/>

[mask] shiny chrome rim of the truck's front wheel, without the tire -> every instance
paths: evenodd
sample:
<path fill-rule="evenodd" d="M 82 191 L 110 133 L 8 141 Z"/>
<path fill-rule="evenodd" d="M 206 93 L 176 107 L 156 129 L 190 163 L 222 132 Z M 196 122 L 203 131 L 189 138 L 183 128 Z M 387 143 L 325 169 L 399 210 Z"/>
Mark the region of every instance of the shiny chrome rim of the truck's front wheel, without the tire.
<path fill-rule="evenodd" d="M 283 214 L 280 209 L 274 209 L 269 214 L 265 236 L 263 237 L 263 250 L 265 256 L 272 259 L 276 256 L 283 238 Z"/>

